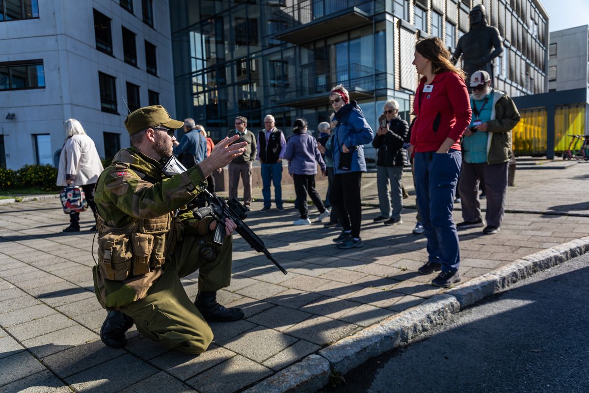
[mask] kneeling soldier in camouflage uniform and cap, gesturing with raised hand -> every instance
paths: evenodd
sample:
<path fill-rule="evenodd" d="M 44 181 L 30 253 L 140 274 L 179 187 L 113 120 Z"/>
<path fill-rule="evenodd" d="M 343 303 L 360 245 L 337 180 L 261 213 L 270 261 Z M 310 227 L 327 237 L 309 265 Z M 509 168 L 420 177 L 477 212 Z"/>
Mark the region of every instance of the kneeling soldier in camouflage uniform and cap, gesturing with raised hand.
<path fill-rule="evenodd" d="M 211 243 L 216 222 L 197 220 L 186 204 L 207 186 L 206 178 L 243 154 L 235 136 L 221 141 L 208 158 L 180 174 L 166 174 L 172 155 L 173 120 L 161 105 L 140 108 L 127 116 L 131 147 L 117 153 L 95 189 L 98 207 L 98 265 L 94 287 L 108 309 L 100 338 L 122 348 L 133 323 L 148 338 L 188 354 L 206 351 L 213 332 L 206 321 L 237 321 L 240 309 L 217 303 L 216 291 L 229 286 L 231 233 L 225 222 L 222 246 Z M 199 269 L 193 303 L 180 282 Z"/>

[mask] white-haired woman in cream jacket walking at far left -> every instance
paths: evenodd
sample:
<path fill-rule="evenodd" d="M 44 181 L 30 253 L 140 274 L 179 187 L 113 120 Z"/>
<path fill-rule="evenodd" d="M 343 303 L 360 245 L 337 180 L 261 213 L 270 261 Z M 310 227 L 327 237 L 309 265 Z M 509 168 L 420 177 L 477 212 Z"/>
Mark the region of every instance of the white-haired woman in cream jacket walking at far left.
<path fill-rule="evenodd" d="M 74 118 L 65 121 L 64 146 L 59 156 L 57 173 L 58 186 L 80 186 L 84 190 L 88 206 L 96 220 L 96 203 L 94 203 L 94 185 L 104 170 L 98 151 L 92 138 L 86 135 L 84 128 Z M 96 224 L 91 230 L 96 229 Z M 63 232 L 80 232 L 80 213 L 70 213 L 70 226 Z"/>

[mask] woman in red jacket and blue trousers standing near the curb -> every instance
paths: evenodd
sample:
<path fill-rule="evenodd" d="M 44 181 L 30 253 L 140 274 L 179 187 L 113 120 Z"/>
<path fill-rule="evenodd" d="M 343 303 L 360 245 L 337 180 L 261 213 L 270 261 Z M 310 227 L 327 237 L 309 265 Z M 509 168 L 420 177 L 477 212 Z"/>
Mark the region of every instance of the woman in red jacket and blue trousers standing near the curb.
<path fill-rule="evenodd" d="M 416 119 L 409 148 L 415 153 L 417 204 L 428 239 L 428 262 L 419 273 L 442 270 L 432 285 L 444 288 L 460 281 L 452 209 L 462 163 L 459 140 L 471 121 L 464 72 L 449 58 L 438 37 L 420 39 L 415 45 L 413 64 L 422 78 L 413 101 Z"/>

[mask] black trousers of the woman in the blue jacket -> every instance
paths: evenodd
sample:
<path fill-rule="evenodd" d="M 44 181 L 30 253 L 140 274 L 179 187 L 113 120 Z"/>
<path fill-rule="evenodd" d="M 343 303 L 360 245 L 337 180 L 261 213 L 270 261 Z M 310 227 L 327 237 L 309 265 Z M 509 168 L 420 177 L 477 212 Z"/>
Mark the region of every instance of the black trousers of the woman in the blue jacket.
<path fill-rule="evenodd" d="M 362 172 L 337 173 L 329 190 L 329 200 L 337 212 L 343 230 L 351 230 L 352 237 L 360 237 L 362 223 L 362 199 L 360 183 Z"/>

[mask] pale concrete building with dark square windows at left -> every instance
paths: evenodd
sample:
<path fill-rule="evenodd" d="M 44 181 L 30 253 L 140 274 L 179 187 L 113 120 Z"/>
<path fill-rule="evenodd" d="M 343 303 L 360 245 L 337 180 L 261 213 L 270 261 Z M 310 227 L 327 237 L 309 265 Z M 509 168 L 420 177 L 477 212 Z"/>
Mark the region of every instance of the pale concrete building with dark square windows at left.
<path fill-rule="evenodd" d="M 77 118 L 102 157 L 130 110 L 175 114 L 170 7 L 159 0 L 0 1 L 0 164 L 53 164 Z"/>

